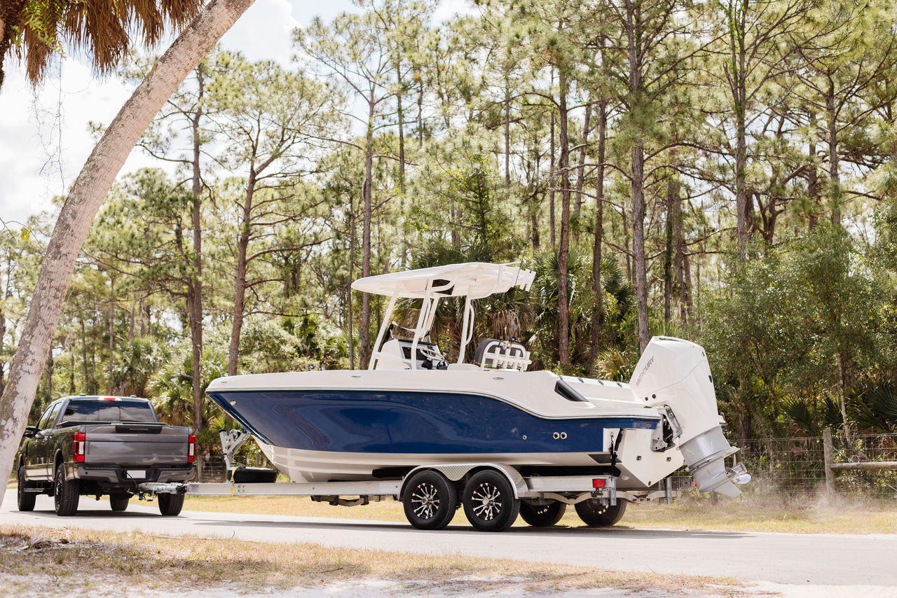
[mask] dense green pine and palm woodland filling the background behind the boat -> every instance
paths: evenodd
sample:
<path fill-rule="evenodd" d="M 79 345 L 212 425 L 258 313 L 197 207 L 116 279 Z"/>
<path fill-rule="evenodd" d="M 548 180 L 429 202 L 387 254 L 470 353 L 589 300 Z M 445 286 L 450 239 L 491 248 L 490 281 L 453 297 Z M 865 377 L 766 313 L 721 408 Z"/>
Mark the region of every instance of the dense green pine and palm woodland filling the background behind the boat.
<path fill-rule="evenodd" d="M 88 7 L 29 6 L 45 11 L 32 28 L 45 50 L 65 38 L 46 15 Z M 350 284 L 368 267 L 521 261 L 536 284 L 478 301 L 473 342 L 518 336 L 558 368 L 570 225 L 570 373 L 627 380 L 647 313 L 650 334 L 707 348 L 742 438 L 815 435 L 845 415 L 893 430 L 897 28 L 889 5 L 864 8 L 493 0 L 437 23 L 432 2 L 375 0 L 295 31 L 294 65 L 216 51 L 144 135 L 157 168 L 103 204 L 36 404 L 149 394 L 189 422 L 199 282 L 203 384 L 227 371 L 231 336 L 238 373 L 365 367 L 353 339 L 376 334 L 386 304 L 370 298 L 362 320 Z M 4 365 L 53 221 L 0 238 Z M 440 307 L 434 340 L 455 359 L 462 306 Z M 400 323 L 418 308 L 401 304 Z"/>

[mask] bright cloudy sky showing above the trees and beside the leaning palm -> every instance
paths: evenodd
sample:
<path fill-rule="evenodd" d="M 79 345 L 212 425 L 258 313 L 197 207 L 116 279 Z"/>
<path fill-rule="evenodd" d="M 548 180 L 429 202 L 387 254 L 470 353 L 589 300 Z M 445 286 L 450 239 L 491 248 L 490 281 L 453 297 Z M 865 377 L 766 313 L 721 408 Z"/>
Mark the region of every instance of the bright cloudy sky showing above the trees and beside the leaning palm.
<path fill-rule="evenodd" d="M 293 28 L 308 24 L 315 15 L 329 21 L 353 10 L 357 9 L 349 0 L 256 0 L 224 35 L 222 48 L 239 50 L 250 60 L 274 59 L 289 65 Z M 436 21 L 457 12 L 466 12 L 465 0 L 442 0 Z M 53 197 L 65 195 L 96 143 L 91 123 L 108 125 L 133 90 L 115 76 L 97 79 L 77 56 L 58 61 L 37 90 L 30 88 L 14 59 L 7 58 L 4 70 L 0 219 L 11 230 L 19 230 L 18 222 L 50 209 Z M 139 151 L 132 152 L 119 175 L 150 163 Z"/>

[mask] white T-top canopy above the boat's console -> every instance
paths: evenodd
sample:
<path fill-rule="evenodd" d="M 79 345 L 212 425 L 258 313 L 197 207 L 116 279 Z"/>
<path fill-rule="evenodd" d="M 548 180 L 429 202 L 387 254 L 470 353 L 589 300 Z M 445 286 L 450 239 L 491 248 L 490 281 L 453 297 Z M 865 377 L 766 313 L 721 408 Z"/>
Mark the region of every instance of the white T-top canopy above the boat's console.
<path fill-rule="evenodd" d="M 432 268 L 367 276 L 352 283 L 354 290 L 407 299 L 427 296 L 481 299 L 513 287 L 529 290 L 536 273 L 511 264 L 438 265 Z"/>

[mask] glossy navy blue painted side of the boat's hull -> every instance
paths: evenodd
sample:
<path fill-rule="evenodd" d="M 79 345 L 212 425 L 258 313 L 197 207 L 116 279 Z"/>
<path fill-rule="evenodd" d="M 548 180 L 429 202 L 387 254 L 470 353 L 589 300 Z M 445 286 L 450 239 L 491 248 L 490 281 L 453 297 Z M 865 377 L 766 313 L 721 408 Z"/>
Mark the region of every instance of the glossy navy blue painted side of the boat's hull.
<path fill-rule="evenodd" d="M 608 450 L 605 429 L 654 429 L 658 423 L 649 417 L 544 419 L 477 394 L 335 389 L 210 396 L 260 443 L 301 452 L 594 454 Z"/>

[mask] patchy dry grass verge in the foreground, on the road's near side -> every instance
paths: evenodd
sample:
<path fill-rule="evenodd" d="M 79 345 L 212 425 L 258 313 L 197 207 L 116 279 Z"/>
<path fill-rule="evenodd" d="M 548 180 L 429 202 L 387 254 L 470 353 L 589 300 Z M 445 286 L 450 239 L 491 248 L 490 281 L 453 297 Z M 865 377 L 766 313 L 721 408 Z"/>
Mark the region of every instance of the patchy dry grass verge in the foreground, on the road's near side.
<path fill-rule="evenodd" d="M 228 594 L 398 582 L 400 594 L 513 594 L 621 588 L 652 594 L 742 595 L 730 579 L 640 573 L 499 559 L 434 557 L 383 550 L 335 550 L 316 544 L 170 538 L 69 528 L 0 526 L 0 594 L 46 596 Z M 41 583 L 47 580 L 52 583 Z"/>

